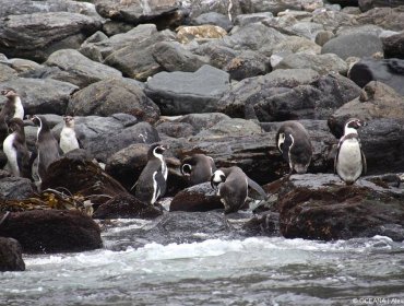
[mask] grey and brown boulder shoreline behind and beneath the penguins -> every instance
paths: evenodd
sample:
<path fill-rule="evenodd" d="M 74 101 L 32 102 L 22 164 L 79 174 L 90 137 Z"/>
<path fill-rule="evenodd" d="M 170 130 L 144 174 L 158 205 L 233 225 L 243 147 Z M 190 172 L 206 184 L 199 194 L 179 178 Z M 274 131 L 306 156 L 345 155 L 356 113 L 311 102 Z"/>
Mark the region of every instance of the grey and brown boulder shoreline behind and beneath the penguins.
<path fill-rule="evenodd" d="M 10 250 L 0 271 L 23 270 L 13 259 L 22 252 L 102 247 L 100 219 L 153 219 L 183 235 L 199 219 L 193 231 L 224 236 L 404 239 L 402 1 L 0 2 L 0 89 L 14 89 L 25 115 L 43 115 L 56 138 L 62 116 L 74 116 L 82 146 L 49 167 L 39 191 L 0 172 L 0 236 L 10 237 L 0 238 Z M 333 174 L 349 117 L 367 122 L 368 176 L 354 186 Z M 285 120 L 299 120 L 313 148 L 308 174 L 288 179 L 275 143 Z M 34 151 L 37 128 L 25 134 Z M 155 142 L 169 148 L 169 174 L 153 207 L 131 187 Z M 224 216 L 209 184 L 188 188 L 180 173 L 195 153 L 239 166 L 269 199 Z"/>

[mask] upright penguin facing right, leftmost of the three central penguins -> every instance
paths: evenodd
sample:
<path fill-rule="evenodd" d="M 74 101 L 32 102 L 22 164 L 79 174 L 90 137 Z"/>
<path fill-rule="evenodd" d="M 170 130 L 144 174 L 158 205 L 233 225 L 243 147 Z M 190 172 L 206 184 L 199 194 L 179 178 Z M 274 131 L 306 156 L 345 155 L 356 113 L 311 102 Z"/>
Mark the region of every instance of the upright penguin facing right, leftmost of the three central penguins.
<path fill-rule="evenodd" d="M 166 148 L 153 144 L 147 152 L 147 164 L 135 184 L 135 197 L 142 202 L 154 204 L 166 192 L 168 169 L 163 153 Z"/>

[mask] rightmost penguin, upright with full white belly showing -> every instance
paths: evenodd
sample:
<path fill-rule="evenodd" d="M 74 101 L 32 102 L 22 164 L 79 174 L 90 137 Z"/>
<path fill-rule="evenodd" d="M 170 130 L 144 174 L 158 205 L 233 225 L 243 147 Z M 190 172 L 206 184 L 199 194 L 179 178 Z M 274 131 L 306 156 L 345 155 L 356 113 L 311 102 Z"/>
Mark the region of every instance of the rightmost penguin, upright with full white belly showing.
<path fill-rule="evenodd" d="M 357 129 L 364 126 L 357 118 L 345 122 L 344 136 L 340 139 L 334 160 L 334 172 L 346 185 L 354 184 L 361 174 L 366 174 L 365 154 L 360 146 Z"/>

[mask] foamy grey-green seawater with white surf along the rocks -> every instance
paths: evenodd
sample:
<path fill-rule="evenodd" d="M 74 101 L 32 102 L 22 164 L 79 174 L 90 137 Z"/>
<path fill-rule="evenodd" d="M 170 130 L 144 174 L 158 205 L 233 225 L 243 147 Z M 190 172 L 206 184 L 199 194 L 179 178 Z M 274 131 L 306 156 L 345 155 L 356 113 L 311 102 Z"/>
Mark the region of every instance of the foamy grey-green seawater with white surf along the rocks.
<path fill-rule="evenodd" d="M 387 237 L 111 250 L 140 226 L 108 228 L 104 249 L 25 256 L 26 271 L 0 273 L 0 305 L 404 305 L 404 244 Z"/>

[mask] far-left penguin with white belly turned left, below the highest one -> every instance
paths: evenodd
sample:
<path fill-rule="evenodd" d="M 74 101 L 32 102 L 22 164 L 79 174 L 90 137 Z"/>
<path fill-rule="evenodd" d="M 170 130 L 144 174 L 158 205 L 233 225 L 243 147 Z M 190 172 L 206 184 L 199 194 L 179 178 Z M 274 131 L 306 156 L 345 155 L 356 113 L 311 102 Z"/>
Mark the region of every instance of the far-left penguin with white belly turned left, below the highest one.
<path fill-rule="evenodd" d="M 8 125 L 11 133 L 3 142 L 3 151 L 8 158 L 7 167 L 14 176 L 32 179 L 31 153 L 25 142 L 24 121 L 12 118 Z"/>

